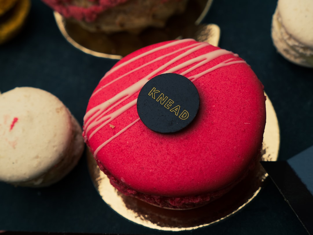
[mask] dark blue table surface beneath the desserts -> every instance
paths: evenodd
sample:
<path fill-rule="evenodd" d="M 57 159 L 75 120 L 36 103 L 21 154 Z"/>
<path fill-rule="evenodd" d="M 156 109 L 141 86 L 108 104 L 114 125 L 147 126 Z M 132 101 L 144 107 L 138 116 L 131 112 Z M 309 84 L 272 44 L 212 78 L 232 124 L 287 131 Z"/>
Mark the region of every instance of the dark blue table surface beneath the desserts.
<path fill-rule="evenodd" d="M 258 75 L 280 123 L 279 160 L 313 145 L 313 69 L 289 63 L 270 37 L 276 1 L 215 0 L 204 23 L 221 28 L 219 46 L 238 53 Z M 116 60 L 97 58 L 70 45 L 52 10 L 32 1 L 28 23 L 0 46 L 0 91 L 17 86 L 45 89 L 82 124 L 88 99 Z M 1 112 L 1 110 L 0 110 Z M 85 155 L 59 183 L 44 189 L 0 183 L 0 230 L 171 234 L 127 221 L 95 191 Z M 242 211 L 220 223 L 177 234 L 306 234 L 275 185 L 268 181 Z"/>

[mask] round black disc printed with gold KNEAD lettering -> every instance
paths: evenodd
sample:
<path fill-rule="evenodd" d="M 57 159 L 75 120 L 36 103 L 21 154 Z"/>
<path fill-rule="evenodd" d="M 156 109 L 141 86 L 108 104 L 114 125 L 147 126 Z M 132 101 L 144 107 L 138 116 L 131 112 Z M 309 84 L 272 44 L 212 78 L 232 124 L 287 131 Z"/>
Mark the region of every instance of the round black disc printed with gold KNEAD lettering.
<path fill-rule="evenodd" d="M 149 129 L 172 133 L 192 122 L 199 104 L 198 90 L 189 79 L 180 74 L 160 74 L 142 87 L 137 111 Z"/>

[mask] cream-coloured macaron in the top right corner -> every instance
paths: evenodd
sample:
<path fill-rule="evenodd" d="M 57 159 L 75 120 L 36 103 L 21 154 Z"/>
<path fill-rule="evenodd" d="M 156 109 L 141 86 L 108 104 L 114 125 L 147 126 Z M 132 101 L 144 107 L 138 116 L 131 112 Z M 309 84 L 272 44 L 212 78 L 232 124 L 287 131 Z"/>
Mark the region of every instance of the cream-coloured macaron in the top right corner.
<path fill-rule="evenodd" d="M 313 67 L 313 1 L 279 0 L 271 32 L 274 46 L 285 59 Z"/>

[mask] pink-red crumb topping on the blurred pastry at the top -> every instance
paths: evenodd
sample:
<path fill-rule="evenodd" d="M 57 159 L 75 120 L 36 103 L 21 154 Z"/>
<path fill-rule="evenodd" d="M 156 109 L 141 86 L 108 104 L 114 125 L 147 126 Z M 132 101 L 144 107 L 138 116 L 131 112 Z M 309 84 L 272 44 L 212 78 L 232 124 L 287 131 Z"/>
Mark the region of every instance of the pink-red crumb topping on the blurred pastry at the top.
<path fill-rule="evenodd" d="M 107 9 L 125 3 L 128 0 L 42 0 L 50 8 L 54 9 L 65 18 L 74 18 L 93 22 L 97 16 Z M 164 0 L 167 2 L 168 0 Z"/>

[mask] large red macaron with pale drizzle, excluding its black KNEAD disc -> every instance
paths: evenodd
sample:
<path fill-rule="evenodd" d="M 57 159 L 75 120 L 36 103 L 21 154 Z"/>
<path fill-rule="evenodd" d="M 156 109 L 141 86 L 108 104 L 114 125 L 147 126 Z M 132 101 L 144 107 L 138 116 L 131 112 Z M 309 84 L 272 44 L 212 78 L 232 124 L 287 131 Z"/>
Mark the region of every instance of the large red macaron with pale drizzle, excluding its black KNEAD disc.
<path fill-rule="evenodd" d="M 140 119 L 141 88 L 159 74 L 187 77 L 200 107 L 184 129 L 162 134 Z M 259 160 L 263 85 L 237 54 L 193 39 L 157 43 L 121 59 L 95 88 L 83 136 L 98 166 L 125 195 L 186 209 L 213 201 Z"/>

